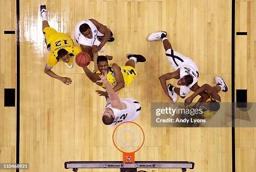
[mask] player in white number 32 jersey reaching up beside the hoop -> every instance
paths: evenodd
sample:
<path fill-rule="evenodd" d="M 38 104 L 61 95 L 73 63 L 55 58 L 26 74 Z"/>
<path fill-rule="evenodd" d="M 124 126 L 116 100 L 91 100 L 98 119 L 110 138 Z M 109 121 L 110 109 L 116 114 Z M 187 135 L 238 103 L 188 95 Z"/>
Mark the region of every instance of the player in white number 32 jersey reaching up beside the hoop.
<path fill-rule="evenodd" d="M 101 83 L 105 83 L 109 101 L 103 111 L 102 121 L 105 125 L 114 126 L 120 122 L 134 121 L 141 114 L 141 104 L 132 98 L 119 99 L 107 80 L 107 72 L 100 76 Z"/>

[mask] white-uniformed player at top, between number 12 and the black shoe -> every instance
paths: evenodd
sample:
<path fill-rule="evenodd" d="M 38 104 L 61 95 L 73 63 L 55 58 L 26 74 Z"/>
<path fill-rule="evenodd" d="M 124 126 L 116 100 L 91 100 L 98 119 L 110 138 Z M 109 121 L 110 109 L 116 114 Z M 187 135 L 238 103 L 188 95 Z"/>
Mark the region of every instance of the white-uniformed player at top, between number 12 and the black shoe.
<path fill-rule="evenodd" d="M 94 19 L 80 21 L 74 32 L 82 51 L 89 53 L 91 58 L 92 53 L 105 50 L 104 45 L 107 41 L 113 42 L 115 40 L 113 33 L 105 25 Z"/>

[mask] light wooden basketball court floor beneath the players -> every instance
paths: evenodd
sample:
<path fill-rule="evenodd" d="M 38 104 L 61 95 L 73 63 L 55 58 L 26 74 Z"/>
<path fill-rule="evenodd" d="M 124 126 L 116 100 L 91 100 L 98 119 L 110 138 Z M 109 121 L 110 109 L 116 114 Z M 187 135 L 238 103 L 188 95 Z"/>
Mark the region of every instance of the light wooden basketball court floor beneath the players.
<path fill-rule="evenodd" d="M 215 76 L 225 78 L 230 91 L 220 96 L 222 102 L 232 101 L 232 3 L 236 5 L 235 32 L 248 33 L 235 35 L 234 87 L 247 89 L 248 102 L 255 102 L 256 0 L 0 0 L 0 163 L 15 163 L 17 149 L 19 162 L 29 163 L 29 170 L 24 172 L 67 172 L 71 170 L 64 169 L 66 161 L 122 158 L 112 142 L 114 128 L 104 126 L 101 121 L 105 101 L 95 93 L 100 87 L 75 64 L 72 69 L 64 63 L 53 68 L 55 73 L 72 78 L 69 86 L 44 73 L 49 54 L 39 7 L 46 4 L 49 25 L 73 39 L 74 27 L 80 20 L 93 18 L 106 24 L 115 41 L 107 43 L 102 54 L 112 55 L 113 62 L 124 65 L 127 53 L 146 57 L 146 63 L 136 64 L 139 76 L 128 92 L 121 94 L 138 100 L 142 107 L 136 122 L 142 126 L 146 139 L 136 160 L 192 161 L 195 169 L 188 170 L 191 172 L 231 172 L 232 164 L 237 172 L 255 172 L 255 128 L 235 129 L 236 162 L 232 162 L 231 128 L 151 127 L 151 103 L 168 101 L 158 77 L 173 71 L 161 41 L 147 41 L 152 32 L 165 30 L 174 50 L 197 63 L 199 85 L 213 84 Z M 15 34 L 4 34 L 5 30 L 15 30 Z M 170 83 L 177 85 L 174 80 Z M 19 109 L 17 104 L 4 107 L 4 89 L 17 91 L 19 86 L 19 100 L 16 97 Z M 156 172 L 177 170 L 156 169 Z"/>

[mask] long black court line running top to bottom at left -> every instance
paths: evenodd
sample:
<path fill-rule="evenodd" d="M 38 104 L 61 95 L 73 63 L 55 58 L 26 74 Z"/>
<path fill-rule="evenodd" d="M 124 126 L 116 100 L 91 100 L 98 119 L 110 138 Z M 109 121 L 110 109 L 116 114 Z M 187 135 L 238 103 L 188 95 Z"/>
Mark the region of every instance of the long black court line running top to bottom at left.
<path fill-rule="evenodd" d="M 17 27 L 17 102 L 16 102 L 16 113 L 17 113 L 17 124 L 16 124 L 16 163 L 20 163 L 20 1 L 16 0 L 16 27 Z M 16 169 L 19 172 L 19 169 Z"/>

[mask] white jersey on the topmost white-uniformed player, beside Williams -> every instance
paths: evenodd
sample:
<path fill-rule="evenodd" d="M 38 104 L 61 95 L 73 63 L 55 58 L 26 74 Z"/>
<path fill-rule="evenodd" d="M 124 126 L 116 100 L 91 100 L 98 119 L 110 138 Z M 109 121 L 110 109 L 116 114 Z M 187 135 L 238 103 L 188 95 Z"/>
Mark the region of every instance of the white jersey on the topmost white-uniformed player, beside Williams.
<path fill-rule="evenodd" d="M 92 30 L 92 39 L 84 37 L 84 35 L 82 35 L 82 33 L 79 31 L 80 25 L 84 23 L 90 26 Z M 77 43 L 82 44 L 84 46 L 94 45 L 94 42 L 97 39 L 97 34 L 98 34 L 98 29 L 90 20 L 82 20 L 79 23 L 77 23 L 75 27 L 75 37 L 76 37 Z"/>

